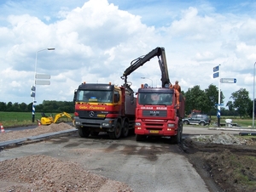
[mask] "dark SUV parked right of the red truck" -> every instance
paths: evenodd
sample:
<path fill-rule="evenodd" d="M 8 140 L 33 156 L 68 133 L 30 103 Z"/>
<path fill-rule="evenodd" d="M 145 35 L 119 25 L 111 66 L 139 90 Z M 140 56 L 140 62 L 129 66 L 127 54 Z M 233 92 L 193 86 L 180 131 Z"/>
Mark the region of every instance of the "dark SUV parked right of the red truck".
<path fill-rule="evenodd" d="M 211 122 L 211 119 L 207 115 L 203 114 L 197 114 L 197 115 L 192 115 L 189 118 L 183 119 L 183 124 L 185 125 L 209 125 Z"/>

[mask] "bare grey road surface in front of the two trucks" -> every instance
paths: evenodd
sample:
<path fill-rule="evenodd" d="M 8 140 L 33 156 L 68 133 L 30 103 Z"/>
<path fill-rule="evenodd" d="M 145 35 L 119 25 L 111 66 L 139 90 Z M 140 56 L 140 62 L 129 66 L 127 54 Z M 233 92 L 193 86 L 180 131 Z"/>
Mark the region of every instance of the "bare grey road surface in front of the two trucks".
<path fill-rule="evenodd" d="M 165 138 L 137 143 L 134 136 L 111 140 L 107 134 L 96 138 L 79 138 L 77 133 L 73 133 L 3 150 L 0 159 L 13 160 L 24 156 L 29 159 L 32 155 L 46 155 L 53 158 L 50 161 L 74 162 L 81 170 L 127 184 L 138 192 L 209 191 L 179 146 L 169 144 L 169 139 Z M 56 172 L 63 177 L 59 168 Z M 68 175 L 68 172 L 65 174 Z M 69 179 L 73 181 L 74 178 Z"/>

